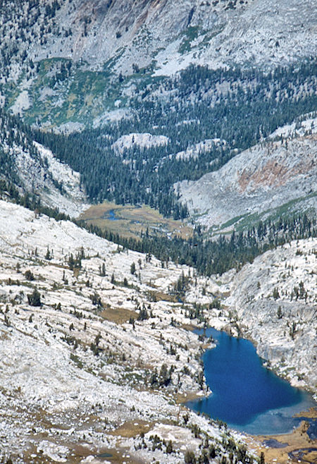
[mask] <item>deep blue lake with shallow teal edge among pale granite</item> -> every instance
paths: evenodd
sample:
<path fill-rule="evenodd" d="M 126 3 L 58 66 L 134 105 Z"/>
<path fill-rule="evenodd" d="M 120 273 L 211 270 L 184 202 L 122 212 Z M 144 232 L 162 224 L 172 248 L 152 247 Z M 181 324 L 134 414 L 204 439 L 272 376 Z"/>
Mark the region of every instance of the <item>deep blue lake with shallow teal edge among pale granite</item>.
<path fill-rule="evenodd" d="M 213 393 L 187 403 L 190 408 L 250 434 L 282 434 L 299 425 L 302 419 L 294 414 L 317 406 L 308 393 L 263 367 L 250 341 L 211 328 L 206 336 L 217 344 L 203 357 Z"/>

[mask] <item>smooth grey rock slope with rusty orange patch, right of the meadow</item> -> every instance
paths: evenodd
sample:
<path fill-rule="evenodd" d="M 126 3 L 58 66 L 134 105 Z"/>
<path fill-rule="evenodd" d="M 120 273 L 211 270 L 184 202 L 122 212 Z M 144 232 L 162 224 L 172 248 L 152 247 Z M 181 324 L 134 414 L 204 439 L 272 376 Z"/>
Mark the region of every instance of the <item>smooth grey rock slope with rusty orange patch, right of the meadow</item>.
<path fill-rule="evenodd" d="M 176 186 L 189 211 L 207 227 L 239 216 L 263 214 L 298 200 L 290 207 L 313 207 L 316 200 L 316 135 L 266 142 L 238 154 L 199 181 Z M 235 221 L 233 221 L 235 222 Z"/>

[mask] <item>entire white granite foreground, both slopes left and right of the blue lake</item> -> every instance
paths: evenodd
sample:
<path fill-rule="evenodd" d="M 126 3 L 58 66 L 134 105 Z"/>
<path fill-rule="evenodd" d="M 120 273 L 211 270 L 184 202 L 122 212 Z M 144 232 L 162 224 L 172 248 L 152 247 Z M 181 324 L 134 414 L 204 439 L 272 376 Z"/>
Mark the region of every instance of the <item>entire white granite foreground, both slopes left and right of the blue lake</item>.
<path fill-rule="evenodd" d="M 316 388 L 316 244 L 300 240 L 206 279 L 0 201 L 0 456 L 183 463 L 213 446 L 218 462 L 229 459 L 230 439 L 235 453 L 247 442 L 256 455 L 254 439 L 182 404 L 206 395 L 201 353 L 212 347 L 188 328 L 206 319 L 261 339 L 278 372 Z M 182 274 L 185 303 L 173 292 Z M 291 301 L 299 281 L 306 300 Z M 209 306 L 215 296 L 220 310 Z"/>

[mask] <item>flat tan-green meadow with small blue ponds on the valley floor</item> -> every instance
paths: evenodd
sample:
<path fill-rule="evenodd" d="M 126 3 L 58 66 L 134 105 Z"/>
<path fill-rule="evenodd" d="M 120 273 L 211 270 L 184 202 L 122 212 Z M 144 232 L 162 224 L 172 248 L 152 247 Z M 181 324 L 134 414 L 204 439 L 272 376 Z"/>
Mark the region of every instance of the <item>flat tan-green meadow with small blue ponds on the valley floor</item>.
<path fill-rule="evenodd" d="M 124 237 L 139 238 L 147 228 L 151 235 L 157 233 L 182 238 L 192 237 L 192 228 L 185 223 L 164 218 L 156 209 L 146 205 L 122 206 L 112 202 L 94 204 L 80 216 L 80 219 Z"/>

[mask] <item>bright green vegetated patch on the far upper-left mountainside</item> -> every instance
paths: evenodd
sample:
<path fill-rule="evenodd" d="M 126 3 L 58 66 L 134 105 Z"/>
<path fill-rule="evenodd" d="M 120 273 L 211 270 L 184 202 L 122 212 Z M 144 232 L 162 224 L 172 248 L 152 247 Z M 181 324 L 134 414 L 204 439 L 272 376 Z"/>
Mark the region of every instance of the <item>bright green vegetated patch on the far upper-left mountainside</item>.
<path fill-rule="evenodd" d="M 70 75 L 59 78 L 57 82 L 55 76 L 58 75 L 61 64 L 67 65 L 70 60 L 54 58 L 39 61 L 37 75 L 28 90 L 31 106 L 23 112 L 25 121 L 32 124 L 39 119 L 41 123 L 46 123 L 48 130 L 69 121 L 91 126 L 95 118 L 116 110 L 116 101 L 120 100 L 120 107 L 125 108 L 128 104 L 125 90 L 130 85 L 136 85 L 142 90 L 147 84 L 153 83 L 151 74 L 155 62 L 140 69 L 139 73 L 124 76 L 120 80 L 113 68 L 123 51 L 124 49 L 120 49 L 113 59 L 105 63 L 103 71 L 88 71 L 86 63 L 73 63 Z M 11 81 L 4 87 L 7 108 L 22 91 L 20 84 L 24 77 L 21 76 L 18 83 Z M 42 95 L 44 88 L 48 92 Z M 39 98 L 41 95 L 42 98 Z"/>

